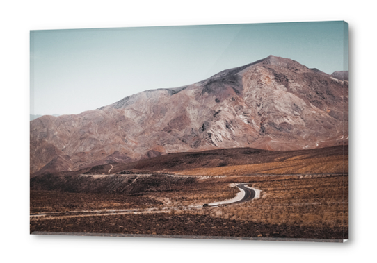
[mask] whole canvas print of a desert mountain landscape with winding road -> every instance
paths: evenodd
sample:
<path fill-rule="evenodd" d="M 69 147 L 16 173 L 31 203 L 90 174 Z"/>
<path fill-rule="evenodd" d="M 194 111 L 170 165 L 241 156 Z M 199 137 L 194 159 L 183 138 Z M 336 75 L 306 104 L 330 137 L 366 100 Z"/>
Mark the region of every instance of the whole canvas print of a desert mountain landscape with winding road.
<path fill-rule="evenodd" d="M 348 24 L 30 32 L 30 233 L 348 239 Z"/>

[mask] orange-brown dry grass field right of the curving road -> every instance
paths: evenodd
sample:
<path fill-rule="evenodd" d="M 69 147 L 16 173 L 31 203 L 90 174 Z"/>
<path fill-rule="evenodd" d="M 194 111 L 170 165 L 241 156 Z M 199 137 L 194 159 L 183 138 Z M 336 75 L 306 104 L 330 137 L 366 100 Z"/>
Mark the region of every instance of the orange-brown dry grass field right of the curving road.
<path fill-rule="evenodd" d="M 266 176 L 250 185 L 262 190 L 261 198 L 204 213 L 280 226 L 348 229 L 348 176 Z"/>

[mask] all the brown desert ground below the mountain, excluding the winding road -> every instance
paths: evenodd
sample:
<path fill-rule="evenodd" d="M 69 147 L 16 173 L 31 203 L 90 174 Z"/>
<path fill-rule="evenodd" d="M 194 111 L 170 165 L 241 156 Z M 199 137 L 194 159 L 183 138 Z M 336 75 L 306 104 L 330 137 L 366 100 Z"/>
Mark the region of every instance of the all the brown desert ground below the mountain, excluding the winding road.
<path fill-rule="evenodd" d="M 232 159 L 235 151 L 238 159 Z M 138 162 L 130 170 L 121 169 L 125 164 L 108 164 L 85 173 L 35 176 L 31 178 L 31 214 L 43 215 L 31 217 L 31 233 L 348 239 L 348 155 L 342 155 L 348 147 L 280 154 L 250 149 L 205 153 L 160 156 L 154 158 L 158 162 Z M 180 162 L 162 166 L 172 160 Z M 224 160 L 230 161 L 228 165 L 218 166 Z M 198 168 L 204 162 L 214 167 Z M 232 162 L 239 165 L 229 165 Z M 143 169 L 135 169 L 137 165 Z M 202 207 L 236 196 L 237 183 L 259 189 L 259 198 Z"/>

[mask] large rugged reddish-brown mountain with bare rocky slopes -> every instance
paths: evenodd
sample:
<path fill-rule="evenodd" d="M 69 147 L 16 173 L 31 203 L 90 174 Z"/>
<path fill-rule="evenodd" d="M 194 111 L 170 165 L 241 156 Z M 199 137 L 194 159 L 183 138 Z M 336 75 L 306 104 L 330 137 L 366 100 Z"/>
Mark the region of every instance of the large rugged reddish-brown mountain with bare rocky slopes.
<path fill-rule="evenodd" d="M 348 81 L 268 56 L 192 85 L 30 125 L 35 174 L 187 151 L 315 149 L 348 144 Z"/>

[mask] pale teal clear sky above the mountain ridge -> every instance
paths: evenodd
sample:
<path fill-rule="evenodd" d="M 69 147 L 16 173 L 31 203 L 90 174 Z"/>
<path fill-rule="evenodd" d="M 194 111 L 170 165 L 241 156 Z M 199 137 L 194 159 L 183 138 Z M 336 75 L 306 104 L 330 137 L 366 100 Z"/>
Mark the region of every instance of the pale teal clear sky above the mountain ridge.
<path fill-rule="evenodd" d="M 344 22 L 31 31 L 31 114 L 78 114 L 269 55 L 348 70 Z"/>

